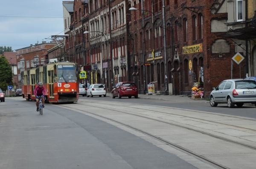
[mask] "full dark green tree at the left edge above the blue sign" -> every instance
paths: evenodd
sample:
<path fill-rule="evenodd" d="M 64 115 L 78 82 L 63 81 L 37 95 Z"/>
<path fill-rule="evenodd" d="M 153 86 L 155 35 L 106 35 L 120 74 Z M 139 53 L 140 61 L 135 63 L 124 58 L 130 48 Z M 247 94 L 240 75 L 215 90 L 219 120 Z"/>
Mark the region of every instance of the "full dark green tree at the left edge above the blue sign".
<path fill-rule="evenodd" d="M 5 56 L 0 56 L 0 88 L 6 90 L 8 85 L 12 85 L 12 67 Z"/>

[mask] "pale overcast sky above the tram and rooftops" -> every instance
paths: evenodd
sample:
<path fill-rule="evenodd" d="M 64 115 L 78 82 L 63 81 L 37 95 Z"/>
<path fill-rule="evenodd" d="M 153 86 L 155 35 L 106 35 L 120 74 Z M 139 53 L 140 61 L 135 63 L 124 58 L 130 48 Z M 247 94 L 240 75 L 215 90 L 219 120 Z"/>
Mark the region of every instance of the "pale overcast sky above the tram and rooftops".
<path fill-rule="evenodd" d="M 63 0 L 1 0 L 0 46 L 15 51 L 64 35 Z M 49 39 L 44 39 L 49 38 Z"/>

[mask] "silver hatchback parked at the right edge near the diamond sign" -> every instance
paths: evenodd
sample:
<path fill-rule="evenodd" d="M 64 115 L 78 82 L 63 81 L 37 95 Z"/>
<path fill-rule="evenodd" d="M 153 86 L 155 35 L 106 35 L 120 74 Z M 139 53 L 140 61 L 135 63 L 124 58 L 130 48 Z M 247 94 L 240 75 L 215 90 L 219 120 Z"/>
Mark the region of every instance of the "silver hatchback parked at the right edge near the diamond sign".
<path fill-rule="evenodd" d="M 218 103 L 227 103 L 229 108 L 242 107 L 244 103 L 256 106 L 256 81 L 244 79 L 227 79 L 210 93 L 210 105 L 215 107 Z"/>

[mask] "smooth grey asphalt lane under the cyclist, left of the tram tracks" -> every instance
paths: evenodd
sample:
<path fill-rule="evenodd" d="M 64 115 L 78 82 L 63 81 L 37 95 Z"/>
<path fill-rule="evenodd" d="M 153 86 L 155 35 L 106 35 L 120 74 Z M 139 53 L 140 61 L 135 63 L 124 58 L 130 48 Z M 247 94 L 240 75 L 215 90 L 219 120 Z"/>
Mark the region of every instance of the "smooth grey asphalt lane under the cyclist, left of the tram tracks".
<path fill-rule="evenodd" d="M 0 169 L 195 169 L 195 166 L 88 115 L 54 104 L 46 104 L 43 115 L 39 115 L 34 101 L 6 98 L 6 102 L 0 103 Z"/>

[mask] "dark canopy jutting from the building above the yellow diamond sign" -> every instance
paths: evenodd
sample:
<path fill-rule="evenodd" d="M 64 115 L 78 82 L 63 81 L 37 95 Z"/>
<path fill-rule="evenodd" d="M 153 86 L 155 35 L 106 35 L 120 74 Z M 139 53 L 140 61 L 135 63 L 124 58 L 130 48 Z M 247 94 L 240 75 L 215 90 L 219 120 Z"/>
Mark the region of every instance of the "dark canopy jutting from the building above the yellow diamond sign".
<path fill-rule="evenodd" d="M 231 38 L 231 39 L 241 39 L 249 40 L 256 39 L 256 27 L 244 27 L 239 29 L 231 29 L 225 33 L 217 34 L 219 37 Z"/>

